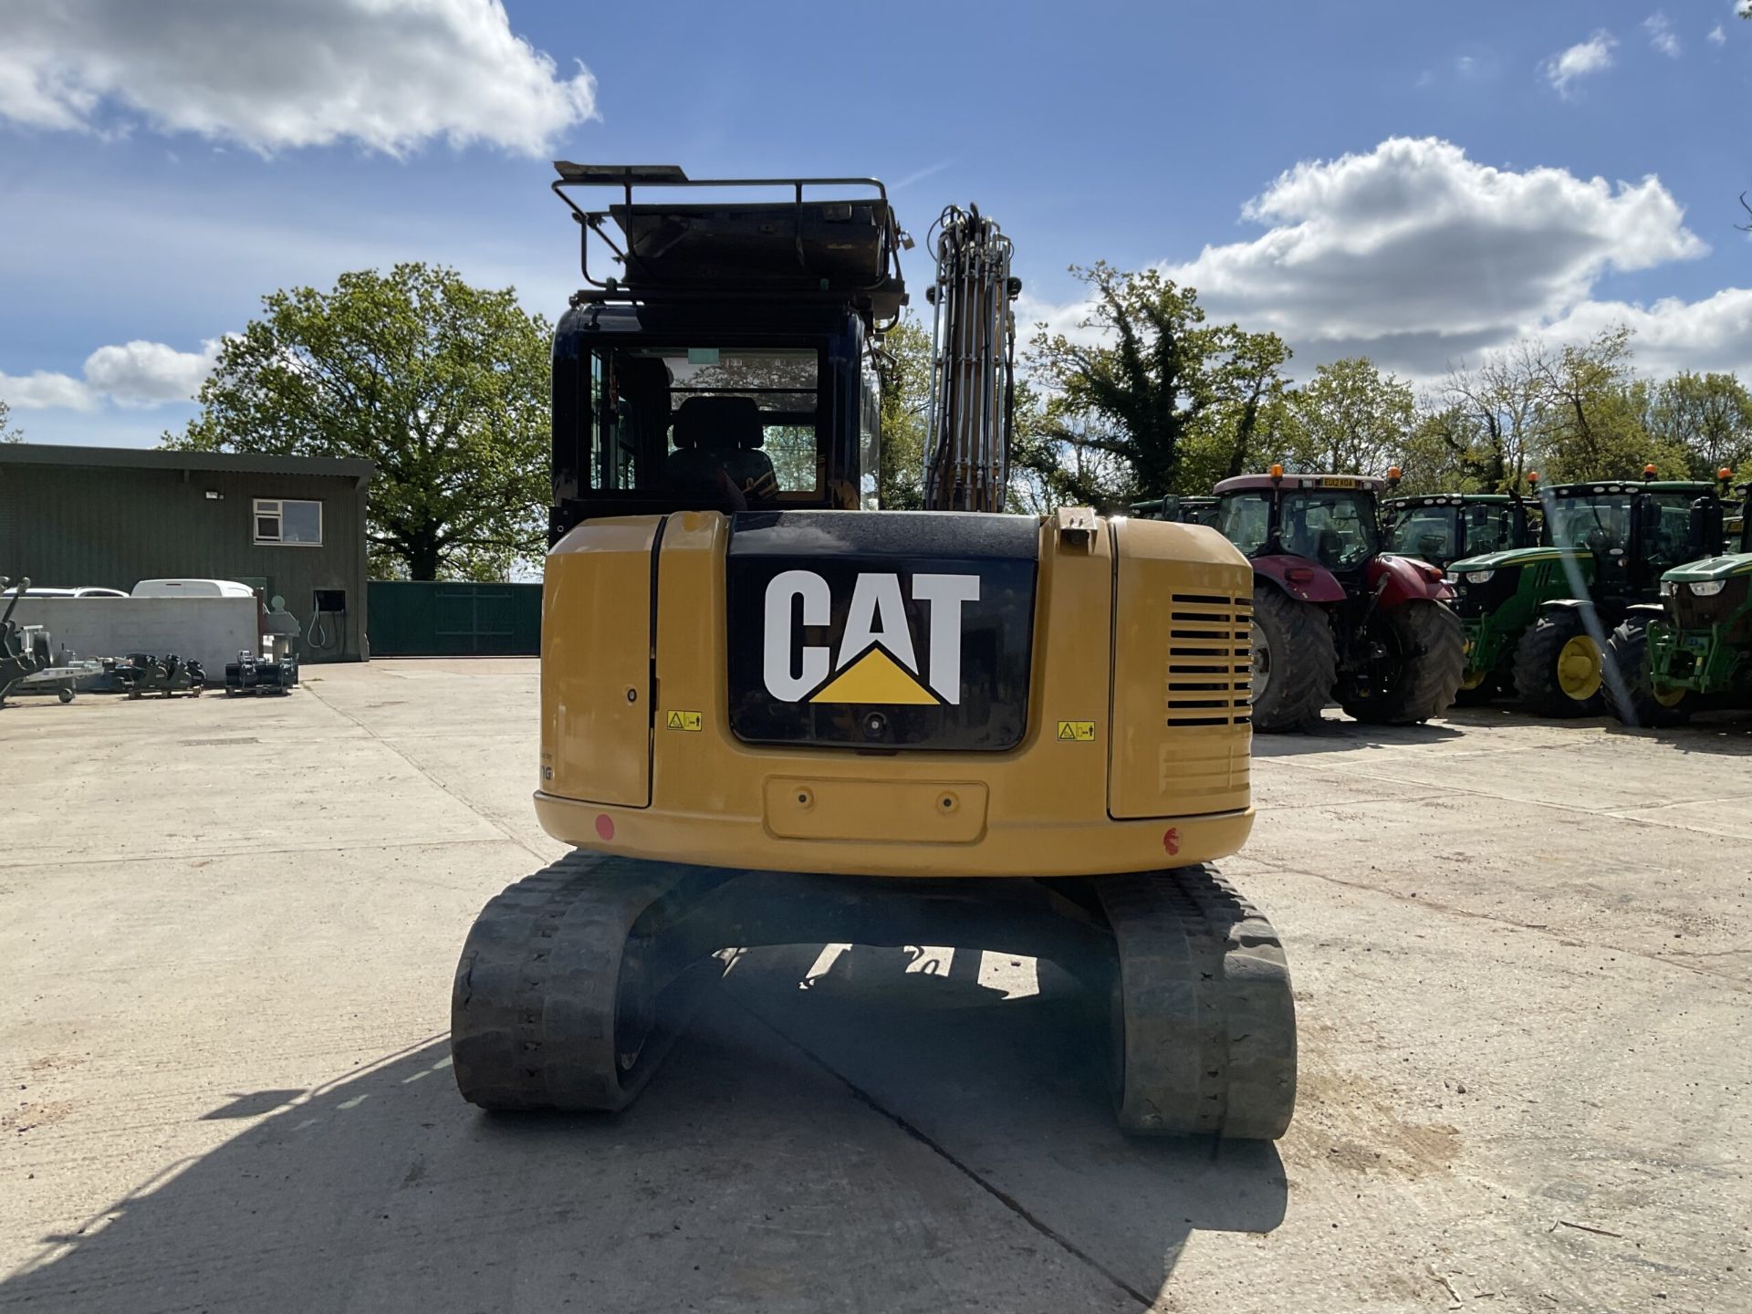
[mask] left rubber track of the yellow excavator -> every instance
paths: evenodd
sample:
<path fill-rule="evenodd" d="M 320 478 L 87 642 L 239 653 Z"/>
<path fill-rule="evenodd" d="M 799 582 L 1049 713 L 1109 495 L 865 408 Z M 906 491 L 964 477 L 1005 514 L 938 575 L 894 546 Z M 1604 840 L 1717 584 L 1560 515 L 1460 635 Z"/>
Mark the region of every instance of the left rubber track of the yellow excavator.
<path fill-rule="evenodd" d="M 450 1058 L 484 1109 L 624 1109 L 662 1060 L 659 1032 L 622 1070 L 620 967 L 639 915 L 683 869 L 569 853 L 494 897 L 463 944 Z"/>

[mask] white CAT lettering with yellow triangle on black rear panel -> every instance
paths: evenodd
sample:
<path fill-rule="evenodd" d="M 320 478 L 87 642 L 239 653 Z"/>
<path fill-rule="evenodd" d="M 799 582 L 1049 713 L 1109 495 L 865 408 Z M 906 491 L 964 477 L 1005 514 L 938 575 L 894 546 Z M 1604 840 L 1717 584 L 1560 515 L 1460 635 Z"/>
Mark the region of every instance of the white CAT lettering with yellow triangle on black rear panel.
<path fill-rule="evenodd" d="M 978 575 L 913 575 L 929 650 L 920 669 L 899 575 L 858 575 L 837 650 L 797 641 L 797 624 L 832 624 L 832 592 L 815 571 L 781 571 L 766 590 L 762 676 L 781 703 L 939 706 L 962 701 L 962 604 L 979 601 Z M 797 603 L 802 603 L 799 608 Z"/>

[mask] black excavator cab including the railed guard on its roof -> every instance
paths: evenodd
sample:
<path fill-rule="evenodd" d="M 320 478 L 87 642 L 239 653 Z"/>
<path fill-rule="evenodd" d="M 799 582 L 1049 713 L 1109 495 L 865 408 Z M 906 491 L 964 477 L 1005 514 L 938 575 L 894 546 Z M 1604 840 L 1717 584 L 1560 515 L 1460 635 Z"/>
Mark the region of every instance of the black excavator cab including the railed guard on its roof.
<path fill-rule="evenodd" d="M 554 335 L 552 538 L 603 515 L 874 508 L 878 347 L 908 300 L 883 184 L 555 168 L 585 286 Z M 592 187 L 618 203 L 573 201 Z M 767 200 L 653 198 L 701 187 Z"/>

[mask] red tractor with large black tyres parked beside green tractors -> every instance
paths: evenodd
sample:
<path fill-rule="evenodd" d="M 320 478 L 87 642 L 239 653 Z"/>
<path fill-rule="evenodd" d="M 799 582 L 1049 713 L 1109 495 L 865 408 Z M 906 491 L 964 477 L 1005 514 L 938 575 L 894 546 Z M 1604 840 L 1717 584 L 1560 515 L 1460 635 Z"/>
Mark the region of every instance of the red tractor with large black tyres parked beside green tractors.
<path fill-rule="evenodd" d="M 1410 725 L 1454 701 L 1465 631 L 1442 571 L 1381 550 L 1382 480 L 1240 475 L 1216 485 L 1216 527 L 1253 561 L 1253 727 L 1296 731 L 1337 699 L 1356 720 Z"/>

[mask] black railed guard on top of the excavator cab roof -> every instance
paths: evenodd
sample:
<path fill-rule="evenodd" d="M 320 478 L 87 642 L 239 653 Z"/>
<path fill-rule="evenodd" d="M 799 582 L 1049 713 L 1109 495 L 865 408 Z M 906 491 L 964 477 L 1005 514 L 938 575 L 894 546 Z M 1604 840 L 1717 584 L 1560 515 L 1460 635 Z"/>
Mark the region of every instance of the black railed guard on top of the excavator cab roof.
<path fill-rule="evenodd" d="M 576 165 L 554 161 L 550 184 L 580 226 L 578 268 L 590 291 L 575 301 L 680 301 L 790 298 L 850 301 L 876 319 L 906 305 L 901 231 L 880 179 L 778 177 L 690 179 L 678 165 Z M 657 200 L 652 189 L 776 189 L 767 201 Z M 836 187 L 816 200 L 806 189 Z M 618 203 L 578 205 L 568 189 L 611 189 Z M 846 189 L 867 196 L 848 200 Z M 645 196 L 638 196 L 645 191 Z M 697 196 L 699 193 L 696 193 Z M 620 228 L 617 242 L 608 221 Z M 592 235 L 620 265 L 620 275 L 590 272 Z"/>

